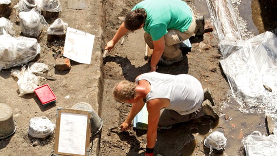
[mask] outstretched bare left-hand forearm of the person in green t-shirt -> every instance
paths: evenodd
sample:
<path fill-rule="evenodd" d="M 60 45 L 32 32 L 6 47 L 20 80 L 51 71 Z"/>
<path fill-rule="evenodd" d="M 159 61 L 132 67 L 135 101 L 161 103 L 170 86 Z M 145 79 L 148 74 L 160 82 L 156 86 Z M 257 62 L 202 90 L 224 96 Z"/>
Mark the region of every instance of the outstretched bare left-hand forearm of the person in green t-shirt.
<path fill-rule="evenodd" d="M 129 30 L 125 27 L 124 22 L 120 25 L 119 30 L 117 31 L 116 35 L 113 37 L 113 39 L 111 39 L 106 47 L 105 50 L 110 51 L 115 44 L 119 41 L 120 38 L 122 38 L 122 36 L 124 36 Z"/>

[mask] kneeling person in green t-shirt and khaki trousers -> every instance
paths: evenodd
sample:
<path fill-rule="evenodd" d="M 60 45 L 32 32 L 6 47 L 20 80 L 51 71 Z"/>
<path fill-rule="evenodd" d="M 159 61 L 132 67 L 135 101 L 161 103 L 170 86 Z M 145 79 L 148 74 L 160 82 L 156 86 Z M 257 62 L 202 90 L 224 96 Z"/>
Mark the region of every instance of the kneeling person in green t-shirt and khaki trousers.
<path fill-rule="evenodd" d="M 179 43 L 194 34 L 204 34 L 204 19 L 196 24 L 194 14 L 182 0 L 143 0 L 129 12 L 105 50 L 110 51 L 128 31 L 143 28 L 144 40 L 153 49 L 151 72 L 157 64 L 170 65 L 183 59 Z"/>

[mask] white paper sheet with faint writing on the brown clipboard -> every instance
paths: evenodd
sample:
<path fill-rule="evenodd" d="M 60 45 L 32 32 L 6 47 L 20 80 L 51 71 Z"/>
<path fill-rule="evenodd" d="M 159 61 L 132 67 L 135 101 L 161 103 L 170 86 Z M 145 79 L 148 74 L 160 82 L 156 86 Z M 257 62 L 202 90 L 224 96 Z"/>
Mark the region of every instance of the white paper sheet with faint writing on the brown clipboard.
<path fill-rule="evenodd" d="M 59 126 L 59 153 L 85 156 L 87 115 L 61 113 Z"/>

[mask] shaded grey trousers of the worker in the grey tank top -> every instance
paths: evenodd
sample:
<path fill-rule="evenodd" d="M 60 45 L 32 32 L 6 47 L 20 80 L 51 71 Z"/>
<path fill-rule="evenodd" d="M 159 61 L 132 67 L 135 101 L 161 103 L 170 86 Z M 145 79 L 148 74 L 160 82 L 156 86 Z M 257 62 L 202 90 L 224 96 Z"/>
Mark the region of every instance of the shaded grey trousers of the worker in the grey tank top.
<path fill-rule="evenodd" d="M 202 110 L 202 107 L 200 107 L 197 111 L 187 115 L 180 115 L 176 111 L 170 109 L 161 109 L 158 126 L 170 126 L 176 123 L 186 122 L 203 116 L 204 112 Z"/>

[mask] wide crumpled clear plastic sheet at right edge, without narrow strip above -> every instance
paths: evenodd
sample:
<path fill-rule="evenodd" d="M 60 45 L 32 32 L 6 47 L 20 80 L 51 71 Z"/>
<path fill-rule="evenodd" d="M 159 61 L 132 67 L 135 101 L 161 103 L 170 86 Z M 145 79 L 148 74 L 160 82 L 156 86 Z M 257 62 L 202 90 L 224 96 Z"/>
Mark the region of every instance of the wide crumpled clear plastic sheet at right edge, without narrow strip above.
<path fill-rule="evenodd" d="M 277 38 L 265 32 L 239 44 L 221 44 L 229 56 L 220 63 L 240 111 L 277 111 Z"/>

